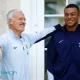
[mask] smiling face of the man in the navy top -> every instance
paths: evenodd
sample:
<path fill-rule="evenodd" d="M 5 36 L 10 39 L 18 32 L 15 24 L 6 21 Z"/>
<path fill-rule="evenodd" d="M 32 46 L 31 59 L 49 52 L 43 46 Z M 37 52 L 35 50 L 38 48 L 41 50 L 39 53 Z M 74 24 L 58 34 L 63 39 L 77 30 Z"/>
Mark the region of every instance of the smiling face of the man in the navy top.
<path fill-rule="evenodd" d="M 67 27 L 73 27 L 78 24 L 79 12 L 76 8 L 65 8 L 64 19 Z"/>

